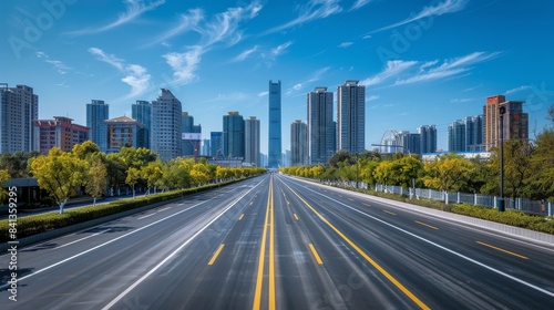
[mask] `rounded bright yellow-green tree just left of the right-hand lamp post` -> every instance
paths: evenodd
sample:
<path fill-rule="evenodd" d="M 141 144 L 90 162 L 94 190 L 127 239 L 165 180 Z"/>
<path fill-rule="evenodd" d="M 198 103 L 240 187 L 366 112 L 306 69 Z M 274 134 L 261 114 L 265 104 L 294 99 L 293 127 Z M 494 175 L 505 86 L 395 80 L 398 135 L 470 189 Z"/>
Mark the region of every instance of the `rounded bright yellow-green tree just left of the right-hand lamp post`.
<path fill-rule="evenodd" d="M 427 187 L 448 192 L 463 190 L 475 173 L 473 163 L 453 153 L 425 163 L 423 169 L 423 184 Z"/>

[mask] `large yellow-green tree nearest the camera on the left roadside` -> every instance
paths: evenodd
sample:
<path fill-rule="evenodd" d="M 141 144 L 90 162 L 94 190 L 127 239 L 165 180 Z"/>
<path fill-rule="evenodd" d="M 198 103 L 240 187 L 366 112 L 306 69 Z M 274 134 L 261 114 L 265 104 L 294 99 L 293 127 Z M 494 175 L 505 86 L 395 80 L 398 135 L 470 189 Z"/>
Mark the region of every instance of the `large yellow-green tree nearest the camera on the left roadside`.
<path fill-rule="evenodd" d="M 37 177 L 39 187 L 55 199 L 60 214 L 63 214 L 63 207 L 75 188 L 83 185 L 88 168 L 86 161 L 58 147 L 31 161 L 31 173 Z"/>

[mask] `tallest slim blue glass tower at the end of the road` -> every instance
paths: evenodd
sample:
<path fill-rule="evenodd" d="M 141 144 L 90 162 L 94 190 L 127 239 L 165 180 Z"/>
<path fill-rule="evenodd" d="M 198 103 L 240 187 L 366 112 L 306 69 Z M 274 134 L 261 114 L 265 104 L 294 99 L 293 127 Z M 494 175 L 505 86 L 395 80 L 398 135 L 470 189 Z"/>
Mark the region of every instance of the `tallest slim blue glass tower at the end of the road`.
<path fill-rule="evenodd" d="M 269 80 L 269 168 L 277 168 L 281 157 L 280 81 Z"/>

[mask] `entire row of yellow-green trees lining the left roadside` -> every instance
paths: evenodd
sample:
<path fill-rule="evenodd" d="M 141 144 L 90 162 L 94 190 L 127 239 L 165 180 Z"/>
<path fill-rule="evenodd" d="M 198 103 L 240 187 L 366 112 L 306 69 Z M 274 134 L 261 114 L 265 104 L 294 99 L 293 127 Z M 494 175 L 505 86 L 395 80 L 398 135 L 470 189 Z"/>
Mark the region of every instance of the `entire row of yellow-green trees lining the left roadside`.
<path fill-rule="evenodd" d="M 156 189 L 189 188 L 217 179 L 248 177 L 265 172 L 263 168 L 220 167 L 207 164 L 205 158 L 195 163 L 193 158 L 174 158 L 162 162 L 147 148 L 122 147 L 119 153 L 104 154 L 93 142 L 78 144 L 71 152 L 58 147 L 48 155 L 18 153 L 0 157 L 0 182 L 10 177 L 34 176 L 39 187 L 49 193 L 60 206 L 60 213 L 68 198 L 83 189 L 96 198 L 105 195 L 106 189 L 119 192 L 146 187 L 147 193 Z M 23 163 L 27 159 L 28 163 Z M 3 189 L 2 189 L 3 190 Z M 0 196 L 4 198 L 6 192 Z"/>

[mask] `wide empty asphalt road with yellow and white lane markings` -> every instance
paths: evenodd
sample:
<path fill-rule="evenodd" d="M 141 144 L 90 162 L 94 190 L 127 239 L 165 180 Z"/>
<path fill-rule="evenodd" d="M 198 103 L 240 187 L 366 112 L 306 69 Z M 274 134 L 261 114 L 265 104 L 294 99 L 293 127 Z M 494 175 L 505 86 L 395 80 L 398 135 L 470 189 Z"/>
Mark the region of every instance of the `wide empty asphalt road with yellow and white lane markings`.
<path fill-rule="evenodd" d="M 0 309 L 552 309 L 554 247 L 267 174 L 0 257 Z"/>

